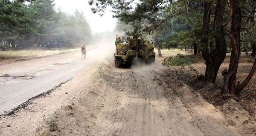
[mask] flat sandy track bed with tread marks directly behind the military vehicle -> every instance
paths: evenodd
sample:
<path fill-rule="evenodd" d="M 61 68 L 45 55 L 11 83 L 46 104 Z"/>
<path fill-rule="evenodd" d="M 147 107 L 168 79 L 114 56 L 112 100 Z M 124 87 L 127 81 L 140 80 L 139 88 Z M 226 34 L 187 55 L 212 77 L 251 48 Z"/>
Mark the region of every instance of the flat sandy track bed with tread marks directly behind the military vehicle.
<path fill-rule="evenodd" d="M 97 113 L 97 125 L 90 130 L 91 134 L 203 136 L 177 95 L 172 101 L 163 96 L 163 88 L 153 81 L 156 76 L 153 70 L 105 70 L 105 107 Z"/>

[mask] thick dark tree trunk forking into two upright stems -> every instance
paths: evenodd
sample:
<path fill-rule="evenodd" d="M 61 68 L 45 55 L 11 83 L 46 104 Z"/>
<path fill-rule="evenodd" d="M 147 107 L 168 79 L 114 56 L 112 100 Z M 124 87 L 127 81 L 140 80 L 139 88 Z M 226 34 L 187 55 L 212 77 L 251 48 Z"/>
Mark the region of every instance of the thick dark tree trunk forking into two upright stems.
<path fill-rule="evenodd" d="M 203 16 L 203 27 L 202 27 L 202 38 L 201 41 L 203 42 L 202 47 L 202 56 L 206 61 L 206 70 L 204 74 L 204 79 L 207 82 L 215 83 L 219 67 L 221 63 L 224 61 L 226 57 L 226 41 L 224 38 L 224 31 L 223 31 L 223 15 L 225 11 L 227 0 L 218 0 L 217 8 L 215 11 L 214 17 L 214 29 L 215 30 L 215 51 L 209 52 L 209 44 L 206 35 L 209 34 L 209 26 L 210 26 L 210 13 L 211 13 L 211 3 L 205 2 L 204 3 L 204 16 Z"/>

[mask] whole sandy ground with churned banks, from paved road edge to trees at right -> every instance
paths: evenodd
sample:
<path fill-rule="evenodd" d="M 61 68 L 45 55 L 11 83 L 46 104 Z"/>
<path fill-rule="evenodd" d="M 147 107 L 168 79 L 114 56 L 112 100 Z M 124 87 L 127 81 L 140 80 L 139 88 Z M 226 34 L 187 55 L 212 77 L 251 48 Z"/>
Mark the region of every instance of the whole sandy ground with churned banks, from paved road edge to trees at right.
<path fill-rule="evenodd" d="M 0 136 L 255 135 L 166 71 L 158 63 L 114 68 L 113 57 L 95 62 L 17 113 L 1 116 Z"/>

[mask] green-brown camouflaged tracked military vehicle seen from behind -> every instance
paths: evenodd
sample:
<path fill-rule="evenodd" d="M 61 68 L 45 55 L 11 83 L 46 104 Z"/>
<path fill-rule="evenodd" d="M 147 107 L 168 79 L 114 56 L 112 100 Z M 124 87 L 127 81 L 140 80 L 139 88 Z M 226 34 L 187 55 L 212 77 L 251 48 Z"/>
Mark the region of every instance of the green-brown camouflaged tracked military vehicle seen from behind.
<path fill-rule="evenodd" d="M 116 45 L 115 66 L 131 67 L 135 62 L 151 63 L 155 62 L 155 53 L 152 43 L 148 40 L 132 39 L 128 43 L 118 43 Z"/>

